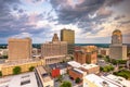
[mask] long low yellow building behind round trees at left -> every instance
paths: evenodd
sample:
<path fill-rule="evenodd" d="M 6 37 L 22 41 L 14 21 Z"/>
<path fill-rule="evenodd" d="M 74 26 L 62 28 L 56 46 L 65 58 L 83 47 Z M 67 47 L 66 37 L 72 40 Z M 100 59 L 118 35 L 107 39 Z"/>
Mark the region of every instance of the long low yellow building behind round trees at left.
<path fill-rule="evenodd" d="M 39 66 L 43 65 L 43 60 L 32 60 L 32 59 L 23 59 L 23 60 L 15 60 L 15 61 L 9 61 L 0 65 L 0 71 L 2 72 L 2 75 L 12 75 L 13 69 L 15 66 L 20 66 L 22 69 L 22 73 L 28 72 L 30 66 Z"/>

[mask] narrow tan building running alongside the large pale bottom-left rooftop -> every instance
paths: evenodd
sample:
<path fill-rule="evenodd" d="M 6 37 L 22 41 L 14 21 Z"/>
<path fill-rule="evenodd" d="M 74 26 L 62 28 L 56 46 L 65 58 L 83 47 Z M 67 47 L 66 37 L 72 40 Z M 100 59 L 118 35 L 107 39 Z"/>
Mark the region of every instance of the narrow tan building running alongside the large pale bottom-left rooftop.
<path fill-rule="evenodd" d="M 38 66 L 35 70 L 39 87 L 54 87 L 54 80 L 43 66 Z"/>

